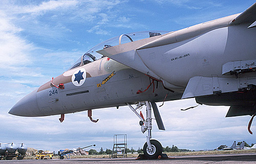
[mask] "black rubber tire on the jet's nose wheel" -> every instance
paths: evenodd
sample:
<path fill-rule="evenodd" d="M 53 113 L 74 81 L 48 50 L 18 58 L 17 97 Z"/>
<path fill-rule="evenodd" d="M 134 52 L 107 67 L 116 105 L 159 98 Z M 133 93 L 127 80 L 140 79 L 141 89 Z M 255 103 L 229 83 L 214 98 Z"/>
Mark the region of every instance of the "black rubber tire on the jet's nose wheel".
<path fill-rule="evenodd" d="M 162 145 L 161 143 L 158 142 L 158 140 L 155 140 L 155 139 L 151 139 L 150 143 L 152 145 L 153 151 L 150 152 L 147 149 L 147 143 L 145 143 L 143 146 L 144 157 L 146 159 L 157 159 L 158 156 L 162 154 L 162 151 L 163 151 Z"/>

